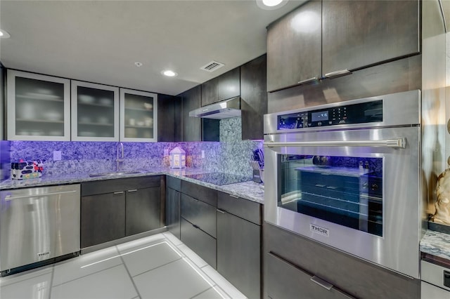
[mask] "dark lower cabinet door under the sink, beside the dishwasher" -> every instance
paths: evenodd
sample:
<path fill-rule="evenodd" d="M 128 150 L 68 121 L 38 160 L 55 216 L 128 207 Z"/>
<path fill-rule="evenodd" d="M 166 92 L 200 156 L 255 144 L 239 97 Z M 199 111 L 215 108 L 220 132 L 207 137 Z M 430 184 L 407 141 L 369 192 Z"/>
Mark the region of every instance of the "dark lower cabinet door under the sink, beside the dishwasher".
<path fill-rule="evenodd" d="M 125 237 L 125 192 L 82 197 L 81 247 Z"/>

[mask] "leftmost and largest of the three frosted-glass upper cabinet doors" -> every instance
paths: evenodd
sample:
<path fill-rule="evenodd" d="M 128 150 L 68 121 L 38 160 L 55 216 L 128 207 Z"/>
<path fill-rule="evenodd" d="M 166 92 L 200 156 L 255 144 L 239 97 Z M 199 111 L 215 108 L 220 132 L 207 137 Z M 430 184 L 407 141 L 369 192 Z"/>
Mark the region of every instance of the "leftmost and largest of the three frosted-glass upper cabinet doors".
<path fill-rule="evenodd" d="M 8 69 L 8 140 L 70 140 L 70 80 Z"/>

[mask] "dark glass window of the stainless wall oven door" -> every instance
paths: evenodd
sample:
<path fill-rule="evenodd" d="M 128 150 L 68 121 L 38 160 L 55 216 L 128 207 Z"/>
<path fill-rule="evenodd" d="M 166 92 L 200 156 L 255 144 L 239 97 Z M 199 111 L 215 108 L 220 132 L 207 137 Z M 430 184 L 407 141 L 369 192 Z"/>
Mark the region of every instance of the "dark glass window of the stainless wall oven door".
<path fill-rule="evenodd" d="M 278 159 L 279 207 L 383 237 L 383 158 Z"/>

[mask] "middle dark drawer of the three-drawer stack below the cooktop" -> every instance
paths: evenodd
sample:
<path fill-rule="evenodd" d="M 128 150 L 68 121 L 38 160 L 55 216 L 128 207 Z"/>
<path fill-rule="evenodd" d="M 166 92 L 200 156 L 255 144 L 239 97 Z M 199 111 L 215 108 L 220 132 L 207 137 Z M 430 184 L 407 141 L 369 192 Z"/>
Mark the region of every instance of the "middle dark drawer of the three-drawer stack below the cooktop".
<path fill-rule="evenodd" d="M 200 227 L 212 237 L 217 236 L 216 208 L 203 201 L 181 194 L 181 217 Z"/>

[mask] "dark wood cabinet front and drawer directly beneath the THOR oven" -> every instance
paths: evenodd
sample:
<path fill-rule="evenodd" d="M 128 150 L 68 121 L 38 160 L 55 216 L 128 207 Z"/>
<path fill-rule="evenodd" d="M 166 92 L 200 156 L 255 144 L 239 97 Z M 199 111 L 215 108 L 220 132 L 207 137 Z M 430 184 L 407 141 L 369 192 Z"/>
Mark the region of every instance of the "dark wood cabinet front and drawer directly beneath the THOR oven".
<path fill-rule="evenodd" d="M 268 223 L 264 224 L 264 252 L 264 298 L 420 298 L 418 279 Z M 327 290 L 311 279 L 324 281 L 337 292 L 323 293 Z"/>

